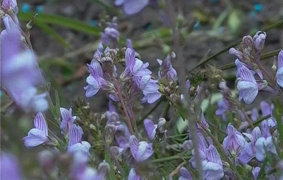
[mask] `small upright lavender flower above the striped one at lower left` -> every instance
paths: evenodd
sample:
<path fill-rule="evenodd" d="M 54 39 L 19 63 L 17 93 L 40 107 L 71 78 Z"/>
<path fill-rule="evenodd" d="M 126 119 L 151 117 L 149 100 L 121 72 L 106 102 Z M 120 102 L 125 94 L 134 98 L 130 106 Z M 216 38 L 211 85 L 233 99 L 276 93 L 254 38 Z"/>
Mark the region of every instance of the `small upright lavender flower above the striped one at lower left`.
<path fill-rule="evenodd" d="M 70 107 L 69 110 L 65 109 L 64 107 L 60 107 L 60 114 L 62 117 L 60 124 L 61 134 L 64 134 L 66 136 L 68 134 L 69 128 L 77 119 L 77 116 L 72 116 L 72 107 Z"/>

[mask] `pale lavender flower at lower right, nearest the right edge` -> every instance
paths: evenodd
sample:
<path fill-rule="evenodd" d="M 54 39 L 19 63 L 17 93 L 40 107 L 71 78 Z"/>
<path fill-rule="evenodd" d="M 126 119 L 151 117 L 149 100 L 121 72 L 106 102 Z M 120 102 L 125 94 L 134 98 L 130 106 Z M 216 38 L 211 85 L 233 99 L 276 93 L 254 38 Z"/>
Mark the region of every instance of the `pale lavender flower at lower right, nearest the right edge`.
<path fill-rule="evenodd" d="M 258 138 L 255 143 L 256 158 L 259 161 L 263 161 L 266 157 L 266 150 L 267 152 L 277 155 L 267 120 L 264 120 L 261 123 L 261 133 L 262 137 Z"/>

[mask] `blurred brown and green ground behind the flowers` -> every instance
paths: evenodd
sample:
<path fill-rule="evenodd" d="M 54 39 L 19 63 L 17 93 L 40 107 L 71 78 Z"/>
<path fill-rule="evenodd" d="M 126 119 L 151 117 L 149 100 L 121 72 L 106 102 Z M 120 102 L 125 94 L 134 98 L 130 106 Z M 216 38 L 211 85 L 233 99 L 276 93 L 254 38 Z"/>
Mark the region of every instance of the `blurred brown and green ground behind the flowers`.
<path fill-rule="evenodd" d="M 57 89 L 61 106 L 67 109 L 78 97 L 90 102 L 93 112 L 106 111 L 107 96 L 103 92 L 91 99 L 86 99 L 83 86 L 89 75 L 86 63 L 90 63 L 98 43 L 101 14 L 118 17 L 120 40 L 118 48 L 126 46 L 126 39 L 131 39 L 134 49 L 143 61 L 150 63 L 149 69 L 157 74 L 159 65 L 156 59 L 164 59 L 170 51 L 171 38 L 166 7 L 163 5 L 147 6 L 135 15 L 126 15 L 121 7 L 115 7 L 112 0 L 68 0 L 68 1 L 17 1 L 19 20 L 22 26 L 38 13 L 30 30 L 30 39 L 37 53 L 42 73 L 51 89 Z M 225 47 L 246 34 L 254 34 L 258 30 L 270 27 L 278 22 L 281 26 L 269 28 L 263 53 L 283 47 L 283 1 L 281 0 L 183 0 L 182 6 L 175 7 L 179 11 L 179 19 L 185 24 L 193 22 L 193 31 L 184 32 L 184 56 L 187 69 L 196 66 L 203 58 L 221 51 Z M 0 25 L 3 29 L 3 24 Z M 208 64 L 221 66 L 233 63 L 235 57 L 228 52 L 211 59 Z M 174 65 L 174 62 L 172 62 Z M 273 57 L 265 59 L 264 65 L 271 71 Z M 205 66 L 202 66 L 204 68 Z M 224 76 L 231 78 L 230 86 L 234 86 L 235 69 L 225 70 Z M 266 94 L 262 94 L 266 96 Z M 51 94 L 54 97 L 54 94 Z M 260 97 L 256 102 L 260 101 Z M 165 104 L 163 104 L 165 106 Z M 153 105 L 144 104 L 147 112 Z M 141 107 L 140 107 L 141 108 Z M 14 112 L 11 100 L 0 92 L 0 118 L 4 114 Z M 156 115 L 159 116 L 156 111 Z M 23 120 L 24 119 L 24 120 Z M 25 164 L 32 163 L 25 154 L 32 154 L 38 149 L 23 149 L 21 139 L 32 127 L 31 115 L 13 115 L 10 121 L 1 121 L 1 147 L 9 147 L 21 154 Z M 19 128 L 20 127 L 20 128 Z M 7 136 L 7 129 L 12 130 Z M 13 134 L 14 132 L 14 134 Z M 19 143 L 13 143 L 19 142 Z M 27 166 L 28 167 L 28 166 Z M 36 170 L 34 173 L 38 173 Z"/>

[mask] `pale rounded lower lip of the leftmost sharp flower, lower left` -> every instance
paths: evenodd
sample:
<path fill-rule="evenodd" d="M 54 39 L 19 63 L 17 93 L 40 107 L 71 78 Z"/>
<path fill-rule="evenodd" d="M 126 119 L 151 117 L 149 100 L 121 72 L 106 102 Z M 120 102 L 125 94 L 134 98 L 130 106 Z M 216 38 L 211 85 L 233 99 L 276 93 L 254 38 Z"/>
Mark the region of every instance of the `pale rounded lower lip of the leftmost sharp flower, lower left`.
<path fill-rule="evenodd" d="M 47 141 L 47 136 L 39 129 L 31 129 L 27 136 L 23 138 L 24 145 L 27 148 L 36 147 Z"/>

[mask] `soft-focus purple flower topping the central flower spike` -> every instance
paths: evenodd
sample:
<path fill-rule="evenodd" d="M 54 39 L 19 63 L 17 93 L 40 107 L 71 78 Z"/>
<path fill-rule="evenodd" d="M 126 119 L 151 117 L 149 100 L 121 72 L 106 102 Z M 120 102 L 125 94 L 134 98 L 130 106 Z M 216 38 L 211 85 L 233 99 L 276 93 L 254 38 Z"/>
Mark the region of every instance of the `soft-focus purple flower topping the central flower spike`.
<path fill-rule="evenodd" d="M 107 27 L 101 34 L 101 43 L 115 48 L 119 40 L 119 31 L 117 28 L 117 17 L 113 17 L 112 22 L 107 23 Z"/>

